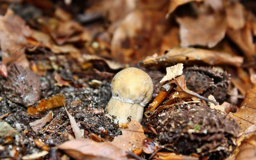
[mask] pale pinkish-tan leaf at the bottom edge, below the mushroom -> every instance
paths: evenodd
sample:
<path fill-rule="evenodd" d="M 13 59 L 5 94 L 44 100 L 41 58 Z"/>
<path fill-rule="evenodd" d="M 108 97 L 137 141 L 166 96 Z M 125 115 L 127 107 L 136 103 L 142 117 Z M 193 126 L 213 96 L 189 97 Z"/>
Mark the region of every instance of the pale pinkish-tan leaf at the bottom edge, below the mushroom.
<path fill-rule="evenodd" d="M 76 160 L 131 160 L 122 148 L 111 143 L 98 143 L 90 139 L 70 140 L 58 146 L 70 157 Z"/>

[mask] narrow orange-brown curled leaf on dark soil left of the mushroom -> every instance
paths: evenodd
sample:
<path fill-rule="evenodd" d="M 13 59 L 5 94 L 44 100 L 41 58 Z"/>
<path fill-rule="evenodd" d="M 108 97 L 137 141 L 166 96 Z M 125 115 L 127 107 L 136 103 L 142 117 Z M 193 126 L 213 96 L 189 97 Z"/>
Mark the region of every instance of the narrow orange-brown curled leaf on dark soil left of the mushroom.
<path fill-rule="evenodd" d="M 40 112 L 47 111 L 48 109 L 63 106 L 64 102 L 64 94 L 57 94 L 52 97 L 48 97 L 47 99 L 41 99 L 36 107 L 28 107 L 27 113 L 39 114 Z"/>

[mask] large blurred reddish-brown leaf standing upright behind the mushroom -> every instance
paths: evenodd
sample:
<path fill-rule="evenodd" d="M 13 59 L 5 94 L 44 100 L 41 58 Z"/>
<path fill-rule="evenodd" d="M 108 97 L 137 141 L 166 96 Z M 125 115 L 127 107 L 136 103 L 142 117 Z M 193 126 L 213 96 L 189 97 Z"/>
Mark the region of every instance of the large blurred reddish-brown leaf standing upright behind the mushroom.
<path fill-rule="evenodd" d="M 158 52 L 167 27 L 164 15 L 164 12 L 138 9 L 129 13 L 113 32 L 113 58 L 123 63 L 137 63 Z"/>

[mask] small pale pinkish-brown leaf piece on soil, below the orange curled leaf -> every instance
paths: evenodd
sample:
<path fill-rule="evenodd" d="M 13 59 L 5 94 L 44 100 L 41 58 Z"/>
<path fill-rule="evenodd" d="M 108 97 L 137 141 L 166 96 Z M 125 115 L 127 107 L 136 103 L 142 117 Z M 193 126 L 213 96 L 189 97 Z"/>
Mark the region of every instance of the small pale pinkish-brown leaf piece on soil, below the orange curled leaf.
<path fill-rule="evenodd" d="M 44 127 L 47 122 L 52 120 L 53 113 L 50 111 L 46 116 L 41 119 L 35 120 L 34 122 L 30 122 L 29 125 L 31 126 L 33 131 L 38 131 L 41 127 Z"/>

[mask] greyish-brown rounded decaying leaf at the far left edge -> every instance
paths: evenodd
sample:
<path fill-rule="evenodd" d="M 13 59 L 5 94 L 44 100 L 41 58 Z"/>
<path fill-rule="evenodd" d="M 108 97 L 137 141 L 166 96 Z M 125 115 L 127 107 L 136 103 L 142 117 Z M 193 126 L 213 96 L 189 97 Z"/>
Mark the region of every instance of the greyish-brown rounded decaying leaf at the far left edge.
<path fill-rule="evenodd" d="M 40 99 L 41 81 L 29 68 L 12 64 L 9 67 L 9 76 L 2 80 L 5 94 L 12 102 L 24 106 L 34 105 Z"/>

